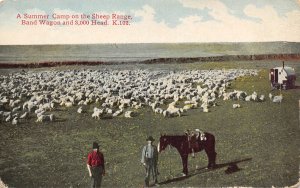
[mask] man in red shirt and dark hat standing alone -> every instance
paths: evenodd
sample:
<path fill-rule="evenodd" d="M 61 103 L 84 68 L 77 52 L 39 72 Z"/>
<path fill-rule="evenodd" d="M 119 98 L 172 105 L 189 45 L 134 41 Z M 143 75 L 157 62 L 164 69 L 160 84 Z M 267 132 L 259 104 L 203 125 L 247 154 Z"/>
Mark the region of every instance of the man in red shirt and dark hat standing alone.
<path fill-rule="evenodd" d="M 93 151 L 88 154 L 87 168 L 91 177 L 91 187 L 100 187 L 102 176 L 105 175 L 104 156 L 99 151 L 97 142 L 93 142 Z"/>

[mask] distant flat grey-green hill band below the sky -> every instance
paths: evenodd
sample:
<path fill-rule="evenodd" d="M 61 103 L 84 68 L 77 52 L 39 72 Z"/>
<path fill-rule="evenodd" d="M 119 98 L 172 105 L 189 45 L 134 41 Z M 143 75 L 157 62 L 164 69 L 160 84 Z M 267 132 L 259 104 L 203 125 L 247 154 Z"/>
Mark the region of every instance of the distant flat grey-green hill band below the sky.
<path fill-rule="evenodd" d="M 44 62 L 159 62 L 181 60 L 243 60 L 277 58 L 291 54 L 298 58 L 300 43 L 152 43 L 152 44 L 75 44 L 75 45 L 0 45 L 0 63 Z M 269 56 L 268 56 L 269 55 Z M 275 55 L 275 56 L 274 56 Z M 224 58 L 220 58 L 220 57 Z M 239 56 L 235 58 L 236 56 Z M 284 56 L 288 57 L 288 56 Z M 154 61 L 158 62 L 158 61 Z"/>

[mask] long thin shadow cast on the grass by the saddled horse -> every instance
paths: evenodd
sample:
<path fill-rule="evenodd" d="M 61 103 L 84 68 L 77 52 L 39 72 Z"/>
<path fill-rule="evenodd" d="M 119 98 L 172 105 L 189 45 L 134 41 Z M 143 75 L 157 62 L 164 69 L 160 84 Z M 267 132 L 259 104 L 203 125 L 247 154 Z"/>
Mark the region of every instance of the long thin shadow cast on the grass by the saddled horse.
<path fill-rule="evenodd" d="M 164 184 L 169 184 L 169 183 L 172 183 L 172 182 L 182 181 L 182 180 L 188 179 L 190 177 L 193 177 L 193 176 L 196 176 L 196 175 L 199 175 L 199 174 L 214 171 L 214 170 L 224 168 L 224 167 L 234 166 L 234 165 L 237 165 L 238 163 L 245 162 L 245 161 L 250 161 L 250 160 L 252 160 L 252 158 L 246 158 L 246 159 L 242 159 L 242 160 L 238 160 L 238 161 L 232 161 L 232 162 L 228 162 L 228 163 L 217 164 L 215 166 L 215 168 L 213 168 L 213 169 L 206 169 L 206 167 L 202 167 L 202 168 L 191 171 L 190 174 L 187 175 L 187 176 L 175 177 L 175 178 L 160 182 L 159 185 L 164 185 Z M 239 171 L 239 170 L 241 170 L 241 169 L 238 169 L 237 171 Z"/>

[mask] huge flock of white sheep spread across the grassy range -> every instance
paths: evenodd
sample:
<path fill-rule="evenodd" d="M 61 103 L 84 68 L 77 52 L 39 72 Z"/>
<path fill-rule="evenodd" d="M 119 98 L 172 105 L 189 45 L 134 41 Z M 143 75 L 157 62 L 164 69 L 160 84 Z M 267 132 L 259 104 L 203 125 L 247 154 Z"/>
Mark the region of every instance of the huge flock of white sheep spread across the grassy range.
<path fill-rule="evenodd" d="M 18 124 L 35 117 L 36 122 L 54 121 L 58 108 L 77 106 L 95 119 L 137 115 L 149 106 L 164 117 L 181 116 L 190 109 L 209 112 L 217 99 L 264 101 L 256 92 L 227 91 L 232 80 L 257 75 L 257 70 L 48 70 L 0 76 L 0 121 Z M 281 102 L 282 96 L 273 97 Z M 240 104 L 233 104 L 239 108 Z M 22 120 L 23 119 L 23 120 Z"/>

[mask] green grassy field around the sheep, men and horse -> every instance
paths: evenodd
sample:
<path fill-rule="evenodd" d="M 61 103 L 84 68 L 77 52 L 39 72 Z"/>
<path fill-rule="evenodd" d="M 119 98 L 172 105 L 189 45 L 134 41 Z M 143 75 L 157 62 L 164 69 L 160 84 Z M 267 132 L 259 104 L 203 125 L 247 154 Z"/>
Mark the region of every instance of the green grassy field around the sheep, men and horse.
<path fill-rule="evenodd" d="M 238 78 L 231 89 L 256 91 L 266 97 L 271 92 L 268 69 L 280 62 L 218 62 L 170 65 L 122 65 L 114 69 L 228 69 L 255 68 L 259 75 Z M 296 68 L 300 62 L 286 62 Z M 59 69 L 69 69 L 60 67 Z M 74 67 L 72 67 L 74 68 Z M 107 68 L 105 66 L 91 68 Z M 36 69 L 34 71 L 40 71 Z M 13 70 L 16 71 L 16 70 Z M 2 73 L 4 70 L 2 70 Z M 7 72 L 7 71 L 6 71 Z M 299 80 L 297 81 L 299 86 Z M 275 95 L 279 91 L 272 91 Z M 105 187 L 142 187 L 144 169 L 140 165 L 141 149 L 147 135 L 157 140 L 161 133 L 182 134 L 187 128 L 210 132 L 216 137 L 217 164 L 206 171 L 204 152 L 189 157 L 190 176 L 172 179 L 182 171 L 175 149 L 159 155 L 161 187 L 290 186 L 299 179 L 299 108 L 300 90 L 282 91 L 283 102 L 218 101 L 211 112 L 188 111 L 183 117 L 163 118 L 150 108 L 139 110 L 137 117 L 94 120 L 89 106 L 78 114 L 77 107 L 59 108 L 53 123 L 36 123 L 35 118 L 17 126 L 0 124 L 0 177 L 12 187 L 88 187 L 86 156 L 93 141 L 100 143 L 106 160 Z M 241 108 L 232 109 L 233 103 Z M 239 171 L 226 174 L 229 164 Z M 196 165 L 200 169 L 196 169 Z"/>

